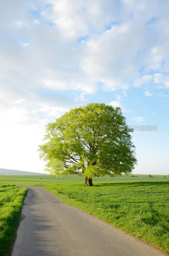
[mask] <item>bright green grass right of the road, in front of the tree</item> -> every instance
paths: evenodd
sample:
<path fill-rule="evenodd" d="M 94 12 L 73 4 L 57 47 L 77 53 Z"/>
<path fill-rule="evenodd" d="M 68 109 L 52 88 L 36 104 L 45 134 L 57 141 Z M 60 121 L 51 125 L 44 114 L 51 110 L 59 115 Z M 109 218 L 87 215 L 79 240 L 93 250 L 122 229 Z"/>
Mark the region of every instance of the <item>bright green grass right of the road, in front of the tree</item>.
<path fill-rule="evenodd" d="M 169 253 L 169 181 L 45 186 L 67 204 Z"/>

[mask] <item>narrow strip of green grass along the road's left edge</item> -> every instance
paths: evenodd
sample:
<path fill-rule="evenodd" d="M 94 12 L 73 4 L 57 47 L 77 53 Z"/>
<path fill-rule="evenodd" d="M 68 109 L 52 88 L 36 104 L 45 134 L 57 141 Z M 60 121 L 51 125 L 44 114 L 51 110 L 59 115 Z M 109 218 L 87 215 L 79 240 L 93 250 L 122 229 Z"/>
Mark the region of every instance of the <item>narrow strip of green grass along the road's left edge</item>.
<path fill-rule="evenodd" d="M 10 253 L 27 188 L 15 185 L 0 186 L 0 255 Z"/>

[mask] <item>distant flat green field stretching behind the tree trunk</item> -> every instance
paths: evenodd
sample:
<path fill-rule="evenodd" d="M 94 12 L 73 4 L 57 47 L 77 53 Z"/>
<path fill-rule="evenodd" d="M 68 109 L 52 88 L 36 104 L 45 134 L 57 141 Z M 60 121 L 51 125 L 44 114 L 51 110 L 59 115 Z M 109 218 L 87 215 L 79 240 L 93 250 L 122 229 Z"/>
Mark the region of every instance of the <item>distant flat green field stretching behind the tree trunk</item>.
<path fill-rule="evenodd" d="M 167 181 L 168 175 L 153 175 L 149 178 L 145 174 L 133 174 L 135 177 L 121 176 L 121 177 L 99 177 L 93 178 L 93 185 L 98 183 L 114 183 L 114 182 L 136 182 L 136 181 Z M 147 176 L 147 177 L 145 177 Z M 166 178 L 164 178 L 164 176 Z M 40 179 L 41 178 L 41 179 Z M 16 184 L 16 185 L 55 185 L 55 184 L 83 184 L 84 177 L 80 175 L 71 175 L 65 177 L 44 176 L 44 175 L 0 175 L 0 184 Z"/>

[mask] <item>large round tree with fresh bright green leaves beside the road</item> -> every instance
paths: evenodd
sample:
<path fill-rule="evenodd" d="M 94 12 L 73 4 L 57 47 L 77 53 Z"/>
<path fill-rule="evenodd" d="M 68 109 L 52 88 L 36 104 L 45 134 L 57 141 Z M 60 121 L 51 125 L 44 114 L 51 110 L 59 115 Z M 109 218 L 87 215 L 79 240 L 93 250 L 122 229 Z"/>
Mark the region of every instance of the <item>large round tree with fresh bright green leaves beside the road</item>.
<path fill-rule="evenodd" d="M 119 125 L 125 129 L 119 131 Z M 85 185 L 104 175 L 129 174 L 136 164 L 135 146 L 120 108 L 104 103 L 70 109 L 45 126 L 46 143 L 39 146 L 46 171 L 56 176 L 78 173 Z"/>

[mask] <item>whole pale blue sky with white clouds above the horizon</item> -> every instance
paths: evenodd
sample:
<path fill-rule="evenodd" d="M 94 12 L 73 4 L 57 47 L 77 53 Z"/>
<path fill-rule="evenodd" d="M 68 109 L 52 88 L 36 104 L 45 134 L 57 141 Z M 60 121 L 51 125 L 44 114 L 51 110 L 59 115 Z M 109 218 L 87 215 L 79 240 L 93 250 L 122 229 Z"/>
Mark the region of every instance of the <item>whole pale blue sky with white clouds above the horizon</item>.
<path fill-rule="evenodd" d="M 169 174 L 169 1 L 0 1 L 0 168 L 43 172 L 44 125 L 119 106 L 135 174 Z"/>

